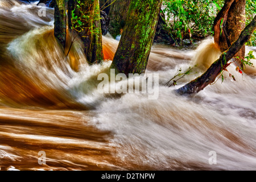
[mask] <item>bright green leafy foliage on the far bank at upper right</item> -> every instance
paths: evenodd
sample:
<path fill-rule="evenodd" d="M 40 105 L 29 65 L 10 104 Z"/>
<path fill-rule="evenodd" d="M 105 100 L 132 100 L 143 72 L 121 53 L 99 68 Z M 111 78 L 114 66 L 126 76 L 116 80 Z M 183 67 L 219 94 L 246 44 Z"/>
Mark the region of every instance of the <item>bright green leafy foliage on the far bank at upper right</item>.
<path fill-rule="evenodd" d="M 214 34 L 213 22 L 224 0 L 164 0 L 163 5 L 168 29 L 182 44 L 183 39 L 190 39 L 191 34 L 195 39 Z M 256 0 L 246 0 L 246 25 L 256 14 L 255 7 Z M 256 31 L 246 45 L 256 46 Z"/>

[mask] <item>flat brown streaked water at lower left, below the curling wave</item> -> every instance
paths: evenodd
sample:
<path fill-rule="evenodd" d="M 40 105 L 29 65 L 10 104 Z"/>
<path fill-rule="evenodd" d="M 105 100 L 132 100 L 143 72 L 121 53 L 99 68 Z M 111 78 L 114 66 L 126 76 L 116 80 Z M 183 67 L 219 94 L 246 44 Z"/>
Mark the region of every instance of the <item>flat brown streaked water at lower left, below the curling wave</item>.
<path fill-rule="evenodd" d="M 88 125 L 85 111 L 0 110 L 2 170 L 9 166 L 20 170 L 121 169 L 114 165 L 108 146 L 112 135 Z M 4 146 L 6 154 L 1 150 Z M 38 164 L 39 151 L 46 152 L 46 165 Z"/>

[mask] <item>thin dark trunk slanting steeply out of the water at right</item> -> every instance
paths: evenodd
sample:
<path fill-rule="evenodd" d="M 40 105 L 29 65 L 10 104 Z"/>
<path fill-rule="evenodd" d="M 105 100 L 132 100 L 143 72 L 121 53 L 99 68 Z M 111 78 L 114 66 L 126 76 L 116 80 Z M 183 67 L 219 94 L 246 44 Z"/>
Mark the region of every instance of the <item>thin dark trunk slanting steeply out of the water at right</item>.
<path fill-rule="evenodd" d="M 187 85 L 184 85 L 183 87 L 176 90 L 179 94 L 192 94 L 192 93 L 198 93 L 200 90 L 203 90 L 207 85 L 214 82 L 216 77 L 221 73 L 222 69 L 225 68 L 226 63 L 240 49 L 245 45 L 246 42 L 250 40 L 251 34 L 253 34 L 254 30 L 256 29 L 256 16 L 254 16 L 254 19 L 243 29 L 241 35 L 238 37 L 236 42 L 232 44 L 232 46 L 229 47 L 227 51 L 222 53 L 220 58 L 216 60 L 210 68 L 200 77 L 197 77 L 195 80 L 189 82 Z"/>

